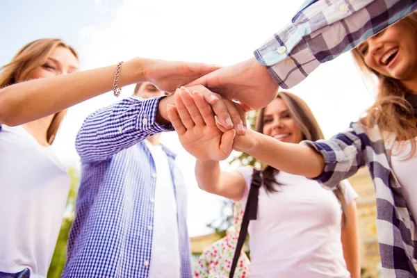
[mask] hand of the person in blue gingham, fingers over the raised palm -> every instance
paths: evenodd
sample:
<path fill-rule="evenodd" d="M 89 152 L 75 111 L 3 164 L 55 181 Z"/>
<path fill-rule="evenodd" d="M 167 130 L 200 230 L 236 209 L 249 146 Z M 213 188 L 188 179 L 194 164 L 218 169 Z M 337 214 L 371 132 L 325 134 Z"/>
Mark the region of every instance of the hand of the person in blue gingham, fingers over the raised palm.
<path fill-rule="evenodd" d="M 175 94 L 181 92 L 181 90 L 189 90 L 190 92 L 199 92 L 200 95 L 204 97 L 204 100 L 206 103 L 210 104 L 211 109 L 213 110 L 213 113 L 215 114 L 215 118 L 224 126 L 224 130 L 229 129 L 235 129 L 236 133 L 239 135 L 244 135 L 246 133 L 246 114 L 243 112 L 242 108 L 234 103 L 233 101 L 230 101 L 229 99 L 224 99 L 220 95 L 216 94 L 215 92 L 211 92 L 211 90 L 208 90 L 202 85 L 196 85 L 190 88 L 183 88 L 181 87 L 179 90 L 175 92 Z M 169 121 L 167 119 L 167 111 L 165 108 L 169 104 L 175 104 L 174 101 L 174 95 L 170 95 L 169 97 L 166 97 L 165 99 L 162 99 L 160 101 L 159 105 L 159 111 L 161 113 L 161 117 L 163 117 L 166 121 Z M 185 94 L 185 92 L 181 92 L 180 95 Z M 186 106 L 195 106 L 193 95 L 186 94 L 185 99 L 183 99 L 183 102 Z M 165 111 L 164 111 L 165 110 Z M 193 111 L 194 113 L 195 111 Z M 198 112 L 195 112 L 198 113 Z M 158 122 L 161 122 L 158 120 Z"/>

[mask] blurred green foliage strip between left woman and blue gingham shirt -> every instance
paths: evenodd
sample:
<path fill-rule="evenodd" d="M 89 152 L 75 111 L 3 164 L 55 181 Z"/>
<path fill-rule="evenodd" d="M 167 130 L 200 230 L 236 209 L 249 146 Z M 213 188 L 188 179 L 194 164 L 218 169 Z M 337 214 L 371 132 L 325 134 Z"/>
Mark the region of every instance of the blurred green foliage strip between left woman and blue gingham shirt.
<path fill-rule="evenodd" d="M 58 240 L 56 241 L 54 256 L 52 256 L 51 265 L 49 265 L 48 278 L 59 278 L 61 272 L 63 272 L 68 234 L 74 221 L 75 199 L 80 183 L 80 172 L 75 167 L 70 167 L 68 168 L 68 173 L 71 177 L 71 189 L 68 194 L 67 206 L 65 207 L 65 215 L 60 227 Z"/>

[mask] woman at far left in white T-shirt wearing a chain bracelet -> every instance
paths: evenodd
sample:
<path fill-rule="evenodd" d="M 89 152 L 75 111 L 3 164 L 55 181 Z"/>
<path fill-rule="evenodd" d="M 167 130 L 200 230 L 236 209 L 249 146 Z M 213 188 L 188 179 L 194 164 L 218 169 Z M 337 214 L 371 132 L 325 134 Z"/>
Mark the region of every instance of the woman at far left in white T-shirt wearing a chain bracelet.
<path fill-rule="evenodd" d="M 47 276 L 70 190 L 50 146 L 65 108 L 113 90 L 116 67 L 79 72 L 76 51 L 59 39 L 26 44 L 0 67 L 0 277 Z M 168 92 L 218 69 L 148 58 L 118 68 L 118 88 L 152 81 Z"/>

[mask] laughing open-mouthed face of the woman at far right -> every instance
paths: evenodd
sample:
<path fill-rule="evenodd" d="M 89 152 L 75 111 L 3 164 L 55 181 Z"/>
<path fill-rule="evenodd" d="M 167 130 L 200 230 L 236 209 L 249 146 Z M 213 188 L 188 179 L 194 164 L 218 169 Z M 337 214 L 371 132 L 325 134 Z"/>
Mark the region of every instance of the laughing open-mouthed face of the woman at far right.
<path fill-rule="evenodd" d="M 417 32 L 405 20 L 389 26 L 357 47 L 370 69 L 400 81 L 416 79 Z"/>

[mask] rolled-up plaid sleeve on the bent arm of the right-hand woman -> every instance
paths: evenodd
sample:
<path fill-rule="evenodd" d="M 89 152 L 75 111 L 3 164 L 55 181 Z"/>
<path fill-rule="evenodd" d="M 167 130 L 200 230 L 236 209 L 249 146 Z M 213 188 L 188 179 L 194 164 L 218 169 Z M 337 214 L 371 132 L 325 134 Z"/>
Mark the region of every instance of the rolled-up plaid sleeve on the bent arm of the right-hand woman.
<path fill-rule="evenodd" d="M 343 179 L 351 177 L 365 165 L 362 149 L 367 145 L 367 138 L 360 130 L 358 132 L 354 123 L 329 140 L 302 141 L 302 144 L 312 147 L 325 159 L 324 171 L 314 179 L 326 188 L 337 188 Z"/>

